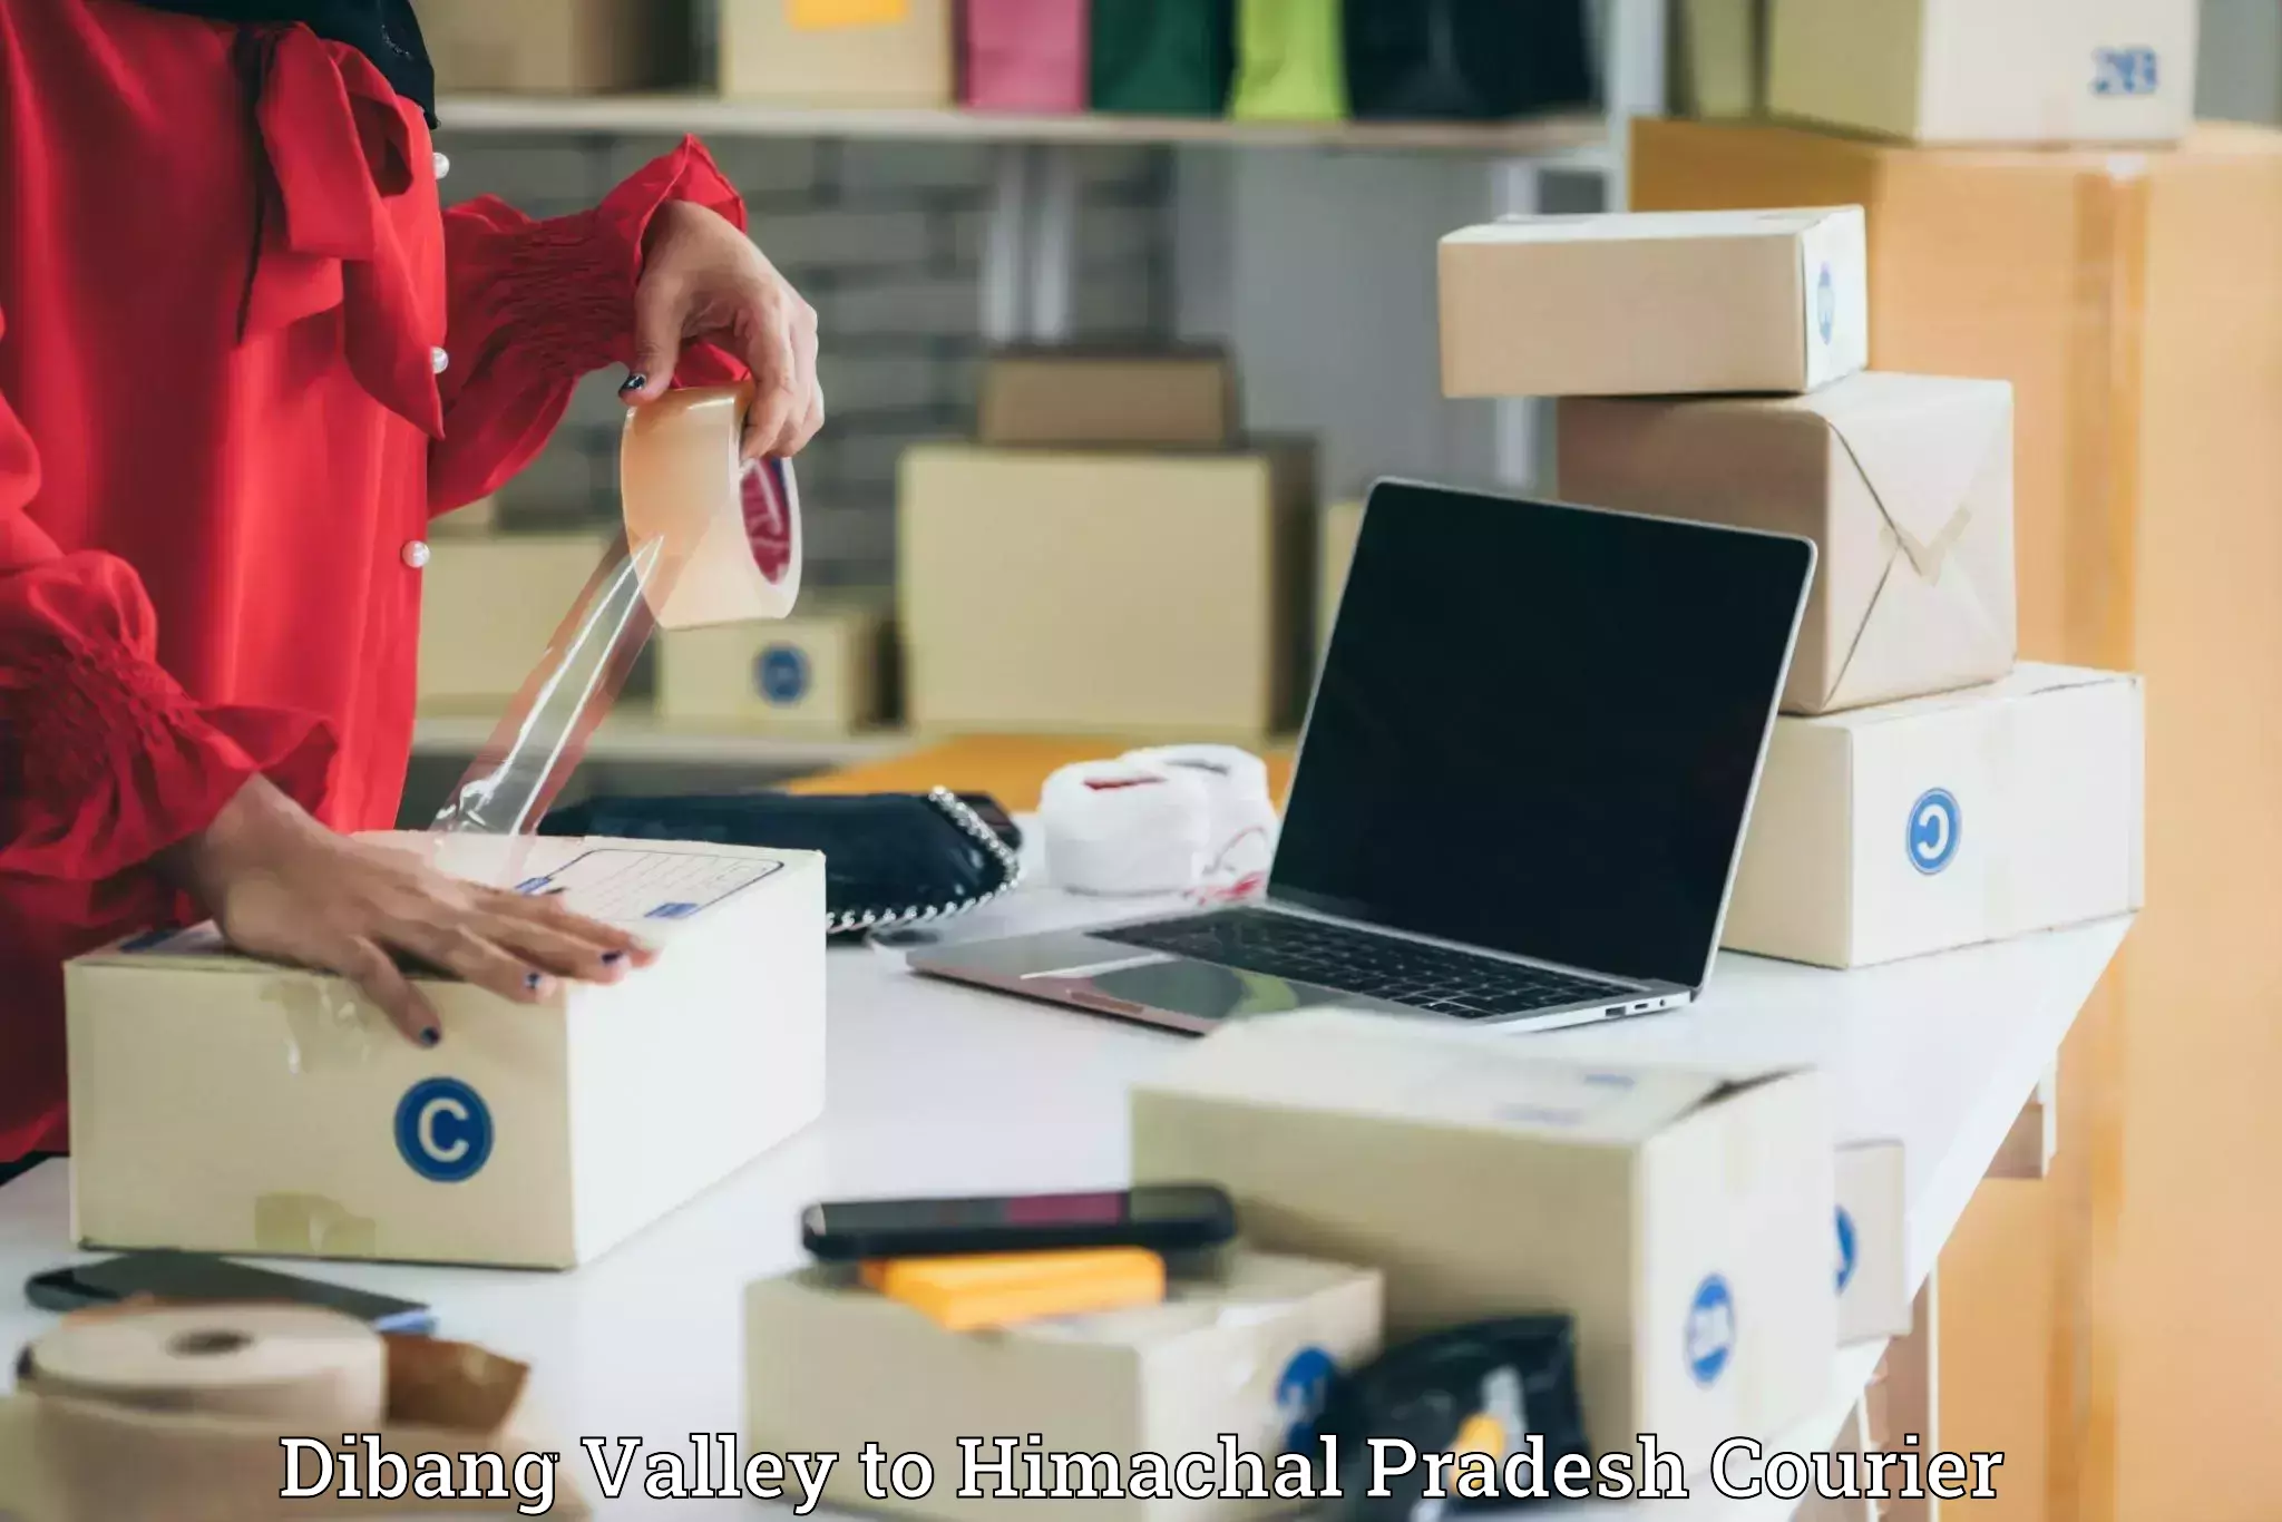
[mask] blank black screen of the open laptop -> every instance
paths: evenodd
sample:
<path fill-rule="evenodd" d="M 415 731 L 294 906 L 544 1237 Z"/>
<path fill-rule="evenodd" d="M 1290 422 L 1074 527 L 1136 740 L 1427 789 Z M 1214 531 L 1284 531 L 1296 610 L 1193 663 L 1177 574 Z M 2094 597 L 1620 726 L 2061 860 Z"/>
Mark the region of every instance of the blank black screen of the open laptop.
<path fill-rule="evenodd" d="M 1271 894 L 1700 986 L 1814 548 L 1383 484 Z"/>

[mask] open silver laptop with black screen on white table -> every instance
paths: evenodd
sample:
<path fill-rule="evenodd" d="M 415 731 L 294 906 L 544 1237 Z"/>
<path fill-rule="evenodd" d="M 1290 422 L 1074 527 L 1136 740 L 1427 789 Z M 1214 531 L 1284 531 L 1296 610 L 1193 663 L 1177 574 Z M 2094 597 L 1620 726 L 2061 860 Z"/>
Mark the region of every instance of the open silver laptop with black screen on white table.
<path fill-rule="evenodd" d="M 1196 1034 L 1677 1009 L 1712 974 L 1812 577 L 1805 539 L 1383 481 L 1267 892 L 911 965 Z"/>

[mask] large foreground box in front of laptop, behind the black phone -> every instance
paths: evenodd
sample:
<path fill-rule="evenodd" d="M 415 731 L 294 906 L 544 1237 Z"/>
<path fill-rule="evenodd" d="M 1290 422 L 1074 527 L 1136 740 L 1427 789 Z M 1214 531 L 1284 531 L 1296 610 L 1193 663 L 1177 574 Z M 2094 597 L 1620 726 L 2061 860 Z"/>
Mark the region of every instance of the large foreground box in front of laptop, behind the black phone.
<path fill-rule="evenodd" d="M 1136 1182 L 1212 1180 L 1246 1241 L 1376 1264 L 1387 1339 L 1561 1312 L 1586 1438 L 1698 1470 L 1828 1394 L 1830 1111 L 1746 1079 L 1298 1013 L 1225 1027 L 1132 1095 Z"/>

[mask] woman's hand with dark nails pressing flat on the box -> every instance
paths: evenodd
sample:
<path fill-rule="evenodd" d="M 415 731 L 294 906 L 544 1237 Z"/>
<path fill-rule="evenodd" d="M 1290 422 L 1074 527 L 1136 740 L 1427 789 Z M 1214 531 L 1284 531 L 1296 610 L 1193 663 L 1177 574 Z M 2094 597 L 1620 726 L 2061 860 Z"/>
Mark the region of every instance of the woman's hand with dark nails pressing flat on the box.
<path fill-rule="evenodd" d="M 347 977 L 424 1047 L 443 1041 L 443 1022 L 399 956 L 518 1004 L 548 999 L 557 979 L 614 983 L 655 956 L 552 899 L 466 883 L 408 851 L 335 835 L 262 778 L 160 867 L 230 945 Z"/>

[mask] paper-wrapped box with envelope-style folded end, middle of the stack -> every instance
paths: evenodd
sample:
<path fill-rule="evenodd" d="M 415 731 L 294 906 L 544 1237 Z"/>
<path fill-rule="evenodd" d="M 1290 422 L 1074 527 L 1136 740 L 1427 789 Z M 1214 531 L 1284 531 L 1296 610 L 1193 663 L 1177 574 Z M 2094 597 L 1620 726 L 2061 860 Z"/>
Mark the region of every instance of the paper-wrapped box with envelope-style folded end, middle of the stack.
<path fill-rule="evenodd" d="M 1810 397 L 1563 402 L 1561 495 L 1816 543 L 1782 710 L 2013 669 L 2013 388 L 1869 372 Z"/>

